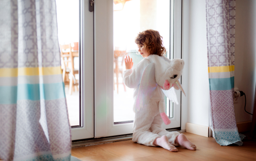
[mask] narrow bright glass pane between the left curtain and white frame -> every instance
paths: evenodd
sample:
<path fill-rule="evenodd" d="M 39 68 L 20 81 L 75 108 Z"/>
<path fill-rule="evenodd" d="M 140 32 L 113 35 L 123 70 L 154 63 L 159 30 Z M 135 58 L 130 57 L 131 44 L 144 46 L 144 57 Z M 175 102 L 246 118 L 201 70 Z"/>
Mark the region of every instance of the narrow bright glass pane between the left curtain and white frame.
<path fill-rule="evenodd" d="M 56 0 L 56 6 L 70 126 L 79 126 L 79 0 Z"/>

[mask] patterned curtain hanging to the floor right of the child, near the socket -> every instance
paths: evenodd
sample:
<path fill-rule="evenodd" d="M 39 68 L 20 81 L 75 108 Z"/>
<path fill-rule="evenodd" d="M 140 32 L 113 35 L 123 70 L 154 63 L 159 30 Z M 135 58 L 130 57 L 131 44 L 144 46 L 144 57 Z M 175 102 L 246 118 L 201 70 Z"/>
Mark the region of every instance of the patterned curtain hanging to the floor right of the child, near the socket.
<path fill-rule="evenodd" d="M 206 0 L 212 131 L 220 145 L 239 144 L 234 112 L 235 0 Z"/>

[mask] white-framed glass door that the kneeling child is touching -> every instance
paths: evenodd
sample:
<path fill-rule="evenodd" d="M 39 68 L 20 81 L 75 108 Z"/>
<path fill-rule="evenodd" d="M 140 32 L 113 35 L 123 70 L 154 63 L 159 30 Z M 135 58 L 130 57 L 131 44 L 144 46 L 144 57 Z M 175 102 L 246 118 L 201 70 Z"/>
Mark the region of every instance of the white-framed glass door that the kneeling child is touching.
<path fill-rule="evenodd" d="M 179 14 L 177 14 L 179 13 Z M 180 19 L 180 20 L 179 20 Z M 134 67 L 143 58 L 137 55 L 134 38 L 145 29 L 163 36 L 168 58 L 181 55 L 181 2 L 174 0 L 97 0 L 94 6 L 94 97 L 95 137 L 132 133 L 133 89 L 122 82 L 124 57 Z M 180 27 L 180 29 L 177 29 Z M 180 41 L 177 43 L 177 40 Z M 177 49 L 180 48 L 180 49 Z M 133 68 L 134 68 L 133 67 Z M 180 91 L 177 91 L 180 104 Z M 166 113 L 180 127 L 180 105 L 166 99 Z"/>

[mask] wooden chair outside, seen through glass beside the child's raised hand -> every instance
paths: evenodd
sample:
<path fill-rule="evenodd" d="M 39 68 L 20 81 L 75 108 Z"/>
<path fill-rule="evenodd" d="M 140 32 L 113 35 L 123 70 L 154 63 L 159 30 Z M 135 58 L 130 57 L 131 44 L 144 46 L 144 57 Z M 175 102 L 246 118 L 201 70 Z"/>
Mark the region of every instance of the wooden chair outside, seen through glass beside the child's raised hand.
<path fill-rule="evenodd" d="M 121 75 L 123 73 L 122 65 L 124 62 L 125 55 L 126 55 L 126 51 L 120 51 L 118 49 L 114 50 L 114 63 L 115 63 L 114 73 L 116 74 L 116 83 L 114 83 L 114 90 L 115 90 L 115 84 L 116 84 L 117 94 L 118 94 L 118 84 L 120 84 L 118 82 L 118 76 L 119 76 L 119 73 L 121 73 Z M 119 61 L 118 61 L 119 57 L 122 57 L 121 66 L 119 66 Z M 122 84 L 123 84 L 124 90 L 126 92 L 125 83 L 122 82 Z"/>

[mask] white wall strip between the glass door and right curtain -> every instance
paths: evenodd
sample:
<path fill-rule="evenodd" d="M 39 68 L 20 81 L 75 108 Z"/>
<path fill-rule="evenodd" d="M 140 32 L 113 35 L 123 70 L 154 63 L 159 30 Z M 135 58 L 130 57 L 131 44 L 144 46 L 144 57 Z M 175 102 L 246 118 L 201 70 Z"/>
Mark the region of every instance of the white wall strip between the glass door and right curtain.
<path fill-rule="evenodd" d="M 209 80 L 205 0 L 189 1 L 188 122 L 208 126 Z"/>

